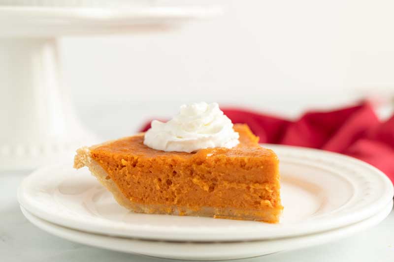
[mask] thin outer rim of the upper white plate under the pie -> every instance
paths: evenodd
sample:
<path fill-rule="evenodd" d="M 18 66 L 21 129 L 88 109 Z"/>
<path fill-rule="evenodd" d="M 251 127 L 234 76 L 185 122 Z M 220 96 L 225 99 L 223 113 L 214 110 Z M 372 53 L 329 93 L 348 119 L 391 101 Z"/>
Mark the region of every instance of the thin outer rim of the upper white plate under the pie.
<path fill-rule="evenodd" d="M 393 184 L 392 184 L 391 180 L 385 174 L 383 174 L 381 171 L 379 171 L 375 167 L 372 167 L 371 165 L 369 165 L 369 164 L 367 164 L 367 163 L 365 163 L 365 162 L 363 162 L 361 160 L 355 159 L 353 157 L 341 155 L 341 154 L 338 154 L 338 153 L 333 153 L 333 152 L 328 152 L 328 151 L 324 151 L 324 150 L 319 150 L 319 149 L 311 149 L 311 148 L 296 147 L 296 146 L 278 146 L 278 145 L 268 145 L 268 144 L 264 144 L 264 146 L 266 146 L 267 148 L 274 148 L 274 150 L 276 150 L 276 151 L 278 151 L 279 148 L 285 148 L 285 150 L 291 148 L 291 150 L 307 150 L 307 151 L 313 151 L 313 152 L 314 151 L 319 151 L 320 153 L 323 152 L 324 155 L 331 154 L 332 156 L 339 157 L 342 160 L 343 159 L 347 159 L 347 160 L 351 160 L 351 161 L 356 161 L 356 163 L 358 165 L 361 165 L 362 167 L 373 171 L 375 173 L 375 175 L 378 175 L 379 178 L 383 179 L 382 181 L 385 181 L 384 184 L 387 187 L 386 187 L 384 195 L 383 195 L 383 197 L 381 197 L 379 203 L 375 204 L 374 206 L 370 206 L 369 208 L 364 208 L 363 212 L 359 212 L 358 216 L 353 214 L 353 215 L 343 216 L 341 221 L 339 219 L 337 219 L 337 221 L 335 223 L 333 223 L 336 226 L 332 226 L 332 225 L 331 226 L 327 226 L 326 225 L 325 228 L 322 229 L 322 230 L 313 230 L 313 231 L 308 230 L 308 231 L 305 231 L 303 233 L 300 233 L 300 232 L 302 232 L 302 229 L 300 229 L 298 233 L 288 233 L 288 234 L 284 234 L 284 235 L 278 235 L 276 237 L 272 237 L 272 236 L 271 237 L 264 237 L 264 236 L 251 237 L 251 236 L 249 236 L 247 238 L 245 238 L 245 237 L 238 237 L 236 239 L 244 239 L 244 240 L 250 240 L 250 239 L 272 239 L 272 238 L 284 237 L 284 236 L 295 236 L 295 235 L 302 235 L 302 234 L 307 234 L 307 233 L 316 233 L 316 232 L 322 232 L 322 231 L 325 231 L 325 230 L 328 230 L 328 229 L 338 228 L 340 226 L 348 225 L 348 224 L 351 224 L 351 223 L 356 223 L 358 221 L 361 221 L 362 219 L 365 219 L 365 218 L 371 216 L 372 214 L 376 213 L 377 210 L 382 209 L 383 206 L 385 204 L 387 204 L 393 198 L 394 189 L 393 189 Z M 66 223 L 65 223 L 65 221 L 62 221 L 62 219 L 60 219 L 56 215 L 48 213 L 46 210 L 42 210 L 42 208 L 40 209 L 40 208 L 37 208 L 37 207 L 33 206 L 32 204 L 29 204 L 29 200 L 24 198 L 23 188 L 24 188 L 24 186 L 26 187 L 25 184 L 27 183 L 29 177 L 33 177 L 35 174 L 39 175 L 40 173 L 45 173 L 47 170 L 51 170 L 53 168 L 59 168 L 59 167 L 62 167 L 62 166 L 53 165 L 53 166 L 44 167 L 44 168 L 38 169 L 37 171 L 33 172 L 31 175 L 26 177 L 22 181 L 21 185 L 18 188 L 18 201 L 24 208 L 29 210 L 32 214 L 36 215 L 37 217 L 40 217 L 40 218 L 42 218 L 44 220 L 47 220 L 47 221 L 51 221 L 51 222 L 53 222 L 55 224 L 58 224 L 58 225 L 63 225 L 63 226 L 69 227 L 69 228 L 81 229 L 81 228 L 75 227 L 75 224 L 78 223 L 77 220 L 73 221 L 72 223 L 70 223 L 69 221 L 66 221 Z M 349 219 L 349 216 L 351 216 L 351 219 Z M 347 222 L 344 222 L 344 221 L 347 221 Z M 338 226 L 338 224 L 339 224 L 339 226 Z M 104 232 L 106 234 L 120 235 L 120 236 L 124 236 L 124 237 L 140 237 L 140 238 L 167 239 L 167 240 L 169 239 L 168 236 L 167 235 L 164 236 L 163 233 L 160 234 L 160 233 L 157 233 L 157 232 L 152 232 L 153 231 L 152 229 L 151 229 L 151 231 L 149 231 L 149 229 L 142 229 L 141 230 L 141 229 L 137 229 L 135 226 L 134 226 L 134 232 L 133 232 L 132 235 L 130 234 L 130 232 L 129 233 L 120 233 L 119 234 L 119 233 L 111 232 L 109 230 L 103 230 L 102 228 L 100 230 L 97 230 L 97 228 L 95 229 L 94 226 L 92 226 L 92 227 L 87 227 L 87 228 L 84 227 L 83 230 L 86 231 L 86 232 L 91 232 L 91 233 L 103 233 Z M 130 228 L 129 228 L 129 230 L 130 230 Z M 167 232 L 169 232 L 169 231 L 170 231 L 170 229 L 167 229 Z M 149 233 L 149 236 L 146 236 L 146 234 L 148 234 L 148 233 Z M 156 233 L 156 235 L 154 235 L 153 233 Z M 226 237 L 224 237 L 224 238 L 226 238 Z M 219 238 L 215 238 L 215 239 L 216 240 L 221 240 L 221 241 L 226 241 L 226 240 L 224 240 L 224 238 L 223 238 L 223 236 L 220 236 Z M 229 239 L 229 237 L 227 237 L 227 238 L 228 238 L 227 241 L 233 241 L 233 238 L 230 238 L 230 239 Z M 182 237 L 182 236 L 173 236 L 172 235 L 171 239 L 185 240 L 185 237 L 184 236 Z M 206 239 L 207 238 L 201 238 L 201 239 L 197 240 L 197 238 L 196 238 L 196 239 L 193 239 L 193 240 L 194 241 L 206 241 Z M 210 237 L 209 239 L 214 239 L 214 238 Z"/>

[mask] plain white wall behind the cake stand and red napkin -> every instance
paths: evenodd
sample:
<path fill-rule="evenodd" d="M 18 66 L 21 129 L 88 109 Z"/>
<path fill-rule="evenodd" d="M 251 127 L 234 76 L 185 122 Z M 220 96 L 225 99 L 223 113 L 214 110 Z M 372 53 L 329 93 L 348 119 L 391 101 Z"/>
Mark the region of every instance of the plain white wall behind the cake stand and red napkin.
<path fill-rule="evenodd" d="M 182 2 L 220 4 L 225 14 L 157 33 L 63 39 L 75 103 L 206 100 L 276 111 L 392 93 L 392 0 Z"/>

